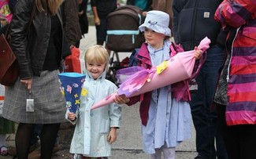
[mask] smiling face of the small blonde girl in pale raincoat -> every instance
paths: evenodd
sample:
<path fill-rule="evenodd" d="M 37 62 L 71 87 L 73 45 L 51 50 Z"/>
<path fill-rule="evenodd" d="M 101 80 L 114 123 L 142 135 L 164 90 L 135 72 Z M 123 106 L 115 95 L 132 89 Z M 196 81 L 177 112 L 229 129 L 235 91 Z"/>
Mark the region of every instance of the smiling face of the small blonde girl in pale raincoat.
<path fill-rule="evenodd" d="M 86 63 L 86 68 L 91 73 L 92 78 L 97 79 L 105 70 L 106 63 L 92 61 L 90 63 Z"/>

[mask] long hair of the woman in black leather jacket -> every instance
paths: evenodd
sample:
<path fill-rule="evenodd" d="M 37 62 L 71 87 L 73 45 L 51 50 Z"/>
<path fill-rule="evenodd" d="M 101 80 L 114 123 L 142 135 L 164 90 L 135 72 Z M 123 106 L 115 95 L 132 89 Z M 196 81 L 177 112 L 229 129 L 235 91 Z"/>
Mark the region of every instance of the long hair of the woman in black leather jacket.
<path fill-rule="evenodd" d="M 62 2 L 63 0 L 35 0 L 35 5 L 39 12 L 49 10 L 50 15 L 54 16 Z"/>

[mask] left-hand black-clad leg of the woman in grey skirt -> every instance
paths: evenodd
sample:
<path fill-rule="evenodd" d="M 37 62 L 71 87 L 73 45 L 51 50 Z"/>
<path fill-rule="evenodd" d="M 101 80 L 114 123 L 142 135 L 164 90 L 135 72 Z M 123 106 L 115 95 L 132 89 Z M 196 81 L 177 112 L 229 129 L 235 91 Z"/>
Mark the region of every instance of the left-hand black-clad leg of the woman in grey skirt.
<path fill-rule="evenodd" d="M 34 124 L 24 124 L 20 123 L 16 136 L 15 136 L 15 145 L 17 150 L 17 158 L 27 159 L 28 151 L 30 147 L 30 142 L 32 138 L 32 133 L 34 132 Z"/>

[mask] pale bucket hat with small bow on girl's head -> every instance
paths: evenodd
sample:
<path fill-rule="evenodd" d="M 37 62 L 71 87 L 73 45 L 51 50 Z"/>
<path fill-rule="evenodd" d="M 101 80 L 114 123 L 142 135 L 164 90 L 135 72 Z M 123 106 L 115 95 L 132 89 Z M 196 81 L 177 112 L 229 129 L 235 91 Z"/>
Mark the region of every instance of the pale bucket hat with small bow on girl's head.
<path fill-rule="evenodd" d="M 145 27 L 152 31 L 171 36 L 169 29 L 169 14 L 159 10 L 151 10 L 147 12 L 146 19 L 143 24 L 139 26 L 140 31 L 145 31 Z"/>

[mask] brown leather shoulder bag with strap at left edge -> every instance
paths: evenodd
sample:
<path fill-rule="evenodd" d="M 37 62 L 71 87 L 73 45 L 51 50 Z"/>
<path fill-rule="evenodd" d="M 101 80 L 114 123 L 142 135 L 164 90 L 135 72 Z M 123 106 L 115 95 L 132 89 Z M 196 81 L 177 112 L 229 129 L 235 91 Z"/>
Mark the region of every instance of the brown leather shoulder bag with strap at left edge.
<path fill-rule="evenodd" d="M 30 17 L 28 31 L 32 24 L 32 19 L 35 14 L 35 3 L 32 9 L 32 15 Z M 16 57 L 9 45 L 9 27 L 6 31 L 6 35 L 0 35 L 0 84 L 11 86 L 18 78 L 18 63 Z"/>

